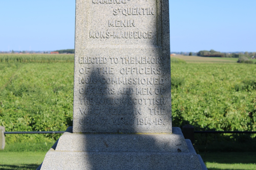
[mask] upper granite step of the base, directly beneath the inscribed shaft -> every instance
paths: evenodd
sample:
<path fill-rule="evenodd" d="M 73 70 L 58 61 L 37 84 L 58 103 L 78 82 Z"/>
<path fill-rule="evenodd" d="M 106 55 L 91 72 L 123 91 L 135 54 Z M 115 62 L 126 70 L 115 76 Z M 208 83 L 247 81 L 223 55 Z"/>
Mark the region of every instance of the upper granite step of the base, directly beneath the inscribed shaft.
<path fill-rule="evenodd" d="M 56 151 L 189 152 L 179 128 L 173 134 L 72 134 L 65 132 Z"/>

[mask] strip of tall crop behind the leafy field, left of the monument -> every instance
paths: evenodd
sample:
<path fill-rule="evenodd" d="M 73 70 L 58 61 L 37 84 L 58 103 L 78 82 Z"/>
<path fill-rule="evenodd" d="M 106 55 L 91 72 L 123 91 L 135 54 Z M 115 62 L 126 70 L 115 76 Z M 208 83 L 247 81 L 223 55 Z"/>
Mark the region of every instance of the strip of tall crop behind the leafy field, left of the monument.
<path fill-rule="evenodd" d="M 50 63 L 50 62 L 74 62 L 72 54 L 0 54 L 1 62 L 21 62 L 21 63 Z"/>

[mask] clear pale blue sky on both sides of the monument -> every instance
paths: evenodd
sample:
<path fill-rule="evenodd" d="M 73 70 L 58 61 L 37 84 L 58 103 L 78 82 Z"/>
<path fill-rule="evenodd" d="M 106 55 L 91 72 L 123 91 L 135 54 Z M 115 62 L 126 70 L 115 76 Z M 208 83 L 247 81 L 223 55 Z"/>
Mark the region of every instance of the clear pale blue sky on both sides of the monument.
<path fill-rule="evenodd" d="M 75 0 L 0 0 L 0 51 L 74 48 Z M 171 51 L 256 51 L 255 0 L 170 0 Z"/>

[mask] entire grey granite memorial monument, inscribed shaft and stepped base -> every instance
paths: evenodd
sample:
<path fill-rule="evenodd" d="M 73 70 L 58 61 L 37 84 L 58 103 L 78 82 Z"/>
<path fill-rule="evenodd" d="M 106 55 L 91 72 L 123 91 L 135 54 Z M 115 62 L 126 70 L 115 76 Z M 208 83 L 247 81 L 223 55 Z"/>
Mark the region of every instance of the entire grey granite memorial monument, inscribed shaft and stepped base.
<path fill-rule="evenodd" d="M 206 169 L 172 127 L 167 0 L 76 0 L 73 127 L 38 169 Z"/>

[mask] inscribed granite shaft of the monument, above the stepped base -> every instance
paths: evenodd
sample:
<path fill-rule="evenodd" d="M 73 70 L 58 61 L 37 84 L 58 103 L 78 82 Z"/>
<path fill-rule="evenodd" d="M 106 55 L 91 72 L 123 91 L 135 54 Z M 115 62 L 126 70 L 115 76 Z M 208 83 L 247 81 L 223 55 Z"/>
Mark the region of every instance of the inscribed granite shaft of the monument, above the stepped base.
<path fill-rule="evenodd" d="M 76 1 L 73 132 L 171 133 L 168 1 Z"/>

